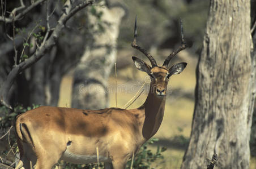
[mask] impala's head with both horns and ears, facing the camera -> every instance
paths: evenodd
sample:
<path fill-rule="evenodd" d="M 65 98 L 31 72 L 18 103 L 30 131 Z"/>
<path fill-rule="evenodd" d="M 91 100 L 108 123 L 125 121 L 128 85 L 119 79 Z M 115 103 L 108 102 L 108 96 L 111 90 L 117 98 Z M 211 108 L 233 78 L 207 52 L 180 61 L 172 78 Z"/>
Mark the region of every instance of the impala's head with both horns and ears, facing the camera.
<path fill-rule="evenodd" d="M 172 52 L 167 59 L 165 59 L 164 64 L 162 66 L 158 66 L 156 60 L 152 55 L 148 54 L 146 50 L 136 45 L 136 19 L 135 19 L 135 28 L 134 28 L 134 40 L 131 43 L 131 46 L 142 52 L 144 55 L 148 57 L 151 62 L 151 65 L 148 65 L 143 60 L 138 57 L 133 56 L 133 61 L 137 69 L 142 72 L 146 72 L 151 77 L 151 91 L 157 96 L 165 96 L 167 91 L 167 84 L 169 78 L 173 74 L 180 74 L 185 68 L 187 63 L 177 63 L 168 69 L 168 65 L 170 60 L 178 54 L 178 52 L 184 50 L 187 46 L 184 43 L 183 30 L 182 30 L 182 22 L 181 22 L 181 46 Z"/>

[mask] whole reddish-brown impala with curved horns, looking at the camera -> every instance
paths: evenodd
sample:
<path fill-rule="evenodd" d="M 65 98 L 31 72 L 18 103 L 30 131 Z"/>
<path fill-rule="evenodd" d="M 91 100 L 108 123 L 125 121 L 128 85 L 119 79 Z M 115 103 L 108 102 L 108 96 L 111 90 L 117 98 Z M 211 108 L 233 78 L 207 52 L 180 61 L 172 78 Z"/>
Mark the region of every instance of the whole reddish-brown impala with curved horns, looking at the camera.
<path fill-rule="evenodd" d="M 144 104 L 130 110 L 41 106 L 19 115 L 15 122 L 20 151 L 16 169 L 31 166 L 49 169 L 59 159 L 76 164 L 95 163 L 97 158 L 104 162 L 105 168 L 125 168 L 127 160 L 156 134 L 164 115 L 169 78 L 186 67 L 186 63 L 178 63 L 168 69 L 169 61 L 186 45 L 181 31 L 182 45 L 167 57 L 163 66 L 157 66 L 152 55 L 136 45 L 136 35 L 135 20 L 131 46 L 146 55 L 152 65 L 133 56 L 136 68 L 151 77 Z"/>

